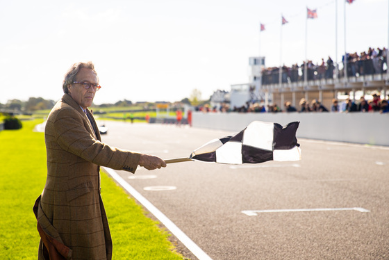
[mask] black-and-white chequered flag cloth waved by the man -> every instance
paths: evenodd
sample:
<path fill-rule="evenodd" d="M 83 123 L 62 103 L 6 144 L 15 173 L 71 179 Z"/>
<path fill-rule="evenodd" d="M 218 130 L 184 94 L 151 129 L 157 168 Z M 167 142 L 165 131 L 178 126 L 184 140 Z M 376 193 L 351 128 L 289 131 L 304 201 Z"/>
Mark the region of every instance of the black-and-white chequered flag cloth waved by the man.
<path fill-rule="evenodd" d="M 281 124 L 254 121 L 235 136 L 211 140 L 195 149 L 189 159 L 226 164 L 299 161 L 296 131 L 299 122 Z"/>

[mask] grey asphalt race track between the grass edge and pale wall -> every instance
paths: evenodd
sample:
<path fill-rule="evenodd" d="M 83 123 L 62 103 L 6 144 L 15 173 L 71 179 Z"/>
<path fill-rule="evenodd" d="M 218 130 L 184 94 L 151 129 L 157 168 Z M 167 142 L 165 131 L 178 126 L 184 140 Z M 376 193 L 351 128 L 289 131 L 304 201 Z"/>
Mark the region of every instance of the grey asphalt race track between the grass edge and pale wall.
<path fill-rule="evenodd" d="M 189 156 L 231 134 L 162 124 L 106 126 L 104 143 L 163 159 Z M 297 162 L 185 162 L 118 173 L 214 260 L 389 259 L 389 147 L 299 143 Z"/>

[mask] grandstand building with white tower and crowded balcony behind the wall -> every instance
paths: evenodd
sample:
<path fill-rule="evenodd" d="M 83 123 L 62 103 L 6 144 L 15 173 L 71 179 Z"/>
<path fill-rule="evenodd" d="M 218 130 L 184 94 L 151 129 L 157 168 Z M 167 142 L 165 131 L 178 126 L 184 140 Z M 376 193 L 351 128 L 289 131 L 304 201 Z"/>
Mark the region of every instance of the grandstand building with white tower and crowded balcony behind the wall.
<path fill-rule="evenodd" d="M 278 104 L 283 109 L 285 101 L 290 101 L 298 108 L 300 99 L 305 98 L 308 101 L 319 99 L 330 108 L 334 98 L 341 99 L 347 95 L 358 99 L 358 96 L 370 95 L 371 92 L 379 92 L 385 98 L 388 95 L 389 73 L 386 60 L 378 62 L 381 70 L 374 70 L 373 60 L 359 63 L 359 73 L 351 71 L 353 64 L 347 63 L 348 73 L 345 75 L 342 63 L 338 65 L 338 70 L 336 66 L 325 67 L 323 74 L 319 66 L 309 69 L 301 66 L 295 71 L 266 68 L 265 57 L 250 57 L 249 83 L 231 86 L 231 107 L 251 101 Z"/>

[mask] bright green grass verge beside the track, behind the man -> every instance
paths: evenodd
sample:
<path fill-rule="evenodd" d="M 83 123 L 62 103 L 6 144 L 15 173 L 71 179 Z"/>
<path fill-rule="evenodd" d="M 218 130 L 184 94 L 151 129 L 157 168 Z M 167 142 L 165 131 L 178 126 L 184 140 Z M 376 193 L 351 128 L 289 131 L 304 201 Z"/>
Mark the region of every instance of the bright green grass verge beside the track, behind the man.
<path fill-rule="evenodd" d="M 37 259 L 39 234 L 33 214 L 46 181 L 44 134 L 33 132 L 42 120 L 19 130 L 0 131 L 0 259 Z M 101 172 L 101 195 L 113 237 L 113 259 L 183 259 L 167 231 L 144 216 L 142 207 Z"/>

